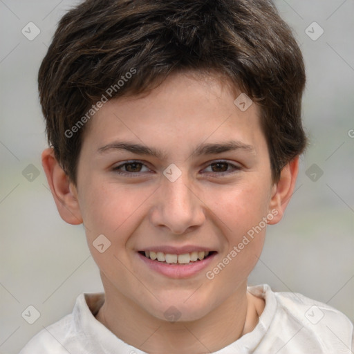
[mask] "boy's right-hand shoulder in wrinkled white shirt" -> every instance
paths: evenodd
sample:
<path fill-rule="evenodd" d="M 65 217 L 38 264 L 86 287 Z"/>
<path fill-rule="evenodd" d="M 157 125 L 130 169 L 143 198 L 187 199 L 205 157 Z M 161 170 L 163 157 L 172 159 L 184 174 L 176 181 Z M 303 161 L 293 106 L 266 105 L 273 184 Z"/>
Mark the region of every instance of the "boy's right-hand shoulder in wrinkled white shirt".
<path fill-rule="evenodd" d="M 267 284 L 248 290 L 265 299 L 252 353 L 350 353 L 353 348 L 353 324 L 332 306 L 296 292 L 273 292 Z"/>

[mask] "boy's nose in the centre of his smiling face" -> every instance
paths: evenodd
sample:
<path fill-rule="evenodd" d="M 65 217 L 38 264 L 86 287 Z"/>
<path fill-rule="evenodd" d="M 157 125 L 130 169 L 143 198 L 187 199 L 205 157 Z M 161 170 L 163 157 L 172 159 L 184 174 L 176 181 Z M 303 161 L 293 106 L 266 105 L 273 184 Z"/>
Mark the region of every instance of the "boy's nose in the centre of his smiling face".
<path fill-rule="evenodd" d="M 205 205 L 194 189 L 188 178 L 183 176 L 174 182 L 167 178 L 162 180 L 156 203 L 151 207 L 151 223 L 176 235 L 191 232 L 203 225 Z"/>

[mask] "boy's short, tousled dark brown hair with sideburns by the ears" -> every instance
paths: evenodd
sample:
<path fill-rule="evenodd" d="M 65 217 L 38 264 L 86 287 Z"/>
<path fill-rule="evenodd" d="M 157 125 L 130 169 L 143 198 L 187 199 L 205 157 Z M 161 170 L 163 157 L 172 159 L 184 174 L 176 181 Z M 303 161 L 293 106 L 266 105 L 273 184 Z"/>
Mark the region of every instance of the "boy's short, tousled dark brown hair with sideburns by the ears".
<path fill-rule="evenodd" d="M 86 0 L 59 21 L 38 77 L 48 142 L 74 183 L 92 105 L 177 71 L 224 75 L 261 106 L 274 181 L 304 151 L 304 61 L 272 1 Z"/>

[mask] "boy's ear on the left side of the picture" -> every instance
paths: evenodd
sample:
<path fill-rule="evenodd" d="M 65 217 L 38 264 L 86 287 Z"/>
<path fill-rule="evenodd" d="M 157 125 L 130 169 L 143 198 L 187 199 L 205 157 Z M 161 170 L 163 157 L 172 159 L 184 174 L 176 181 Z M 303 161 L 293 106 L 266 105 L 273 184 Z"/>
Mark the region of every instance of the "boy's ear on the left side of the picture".
<path fill-rule="evenodd" d="M 82 216 L 77 200 L 77 189 L 57 162 L 53 148 L 43 151 L 41 165 L 46 173 L 50 191 L 62 219 L 72 225 L 81 224 Z"/>

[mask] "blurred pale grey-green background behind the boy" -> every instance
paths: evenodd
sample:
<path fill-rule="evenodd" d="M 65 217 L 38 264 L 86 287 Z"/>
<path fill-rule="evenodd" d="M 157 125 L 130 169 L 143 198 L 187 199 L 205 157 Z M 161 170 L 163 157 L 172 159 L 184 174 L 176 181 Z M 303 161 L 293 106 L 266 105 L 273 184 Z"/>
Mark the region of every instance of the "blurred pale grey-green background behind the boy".
<path fill-rule="evenodd" d="M 75 3 L 0 0 L 0 353 L 18 353 L 71 313 L 80 293 L 102 291 L 84 229 L 59 217 L 40 160 L 47 145 L 37 71 Z M 354 1 L 275 3 L 304 53 L 310 147 L 250 285 L 300 292 L 354 321 Z"/>

